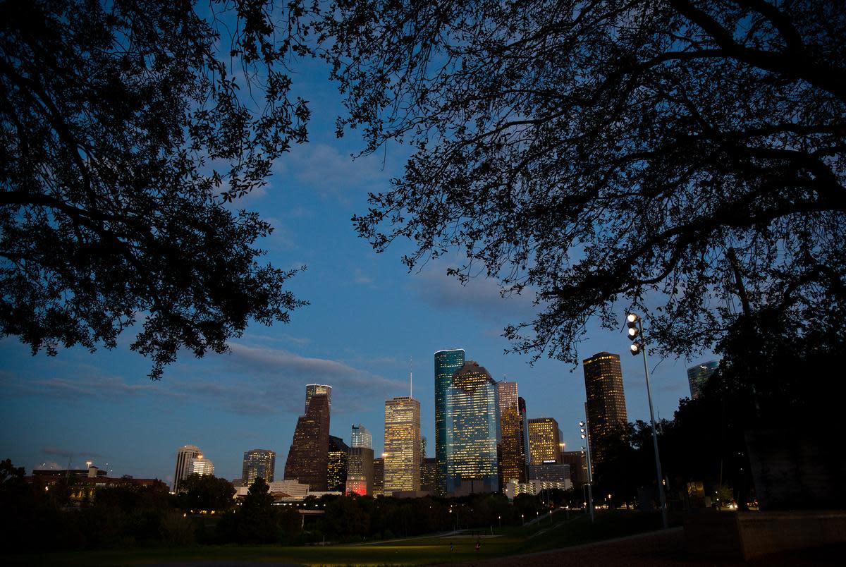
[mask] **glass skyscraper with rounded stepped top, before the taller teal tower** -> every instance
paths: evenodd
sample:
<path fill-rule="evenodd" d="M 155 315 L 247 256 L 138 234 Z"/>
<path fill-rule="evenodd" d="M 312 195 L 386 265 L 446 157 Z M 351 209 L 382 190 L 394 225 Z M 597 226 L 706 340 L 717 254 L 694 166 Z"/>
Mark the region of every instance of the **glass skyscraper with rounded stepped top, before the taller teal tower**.
<path fill-rule="evenodd" d="M 447 494 L 497 492 L 497 383 L 484 366 L 465 361 L 453 374 L 446 394 Z"/>

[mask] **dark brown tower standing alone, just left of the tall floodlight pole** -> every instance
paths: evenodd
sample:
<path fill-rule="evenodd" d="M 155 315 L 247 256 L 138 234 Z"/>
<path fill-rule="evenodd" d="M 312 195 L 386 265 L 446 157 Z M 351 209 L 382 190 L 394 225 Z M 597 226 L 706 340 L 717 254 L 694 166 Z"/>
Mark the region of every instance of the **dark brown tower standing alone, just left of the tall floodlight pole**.
<path fill-rule="evenodd" d="M 600 352 L 582 362 L 587 392 L 588 435 L 591 441 L 591 467 L 596 470 L 605 459 L 605 442 L 622 433 L 628 423 L 623 393 L 620 355 Z"/>

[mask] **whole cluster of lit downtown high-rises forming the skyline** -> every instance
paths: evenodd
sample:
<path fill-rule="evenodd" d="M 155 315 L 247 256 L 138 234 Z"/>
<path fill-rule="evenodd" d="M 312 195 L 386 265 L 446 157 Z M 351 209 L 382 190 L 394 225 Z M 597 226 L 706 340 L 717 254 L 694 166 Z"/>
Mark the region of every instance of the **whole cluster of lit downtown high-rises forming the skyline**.
<path fill-rule="evenodd" d="M 619 355 L 601 352 L 583 361 L 585 417 L 594 470 L 605 459 L 604 443 L 628 422 Z M 710 369 L 709 369 L 710 370 Z M 495 381 L 463 349 L 434 355 L 435 456 L 426 458 L 420 434 L 420 400 L 411 392 L 385 401 L 384 451 L 376 458 L 373 439 L 353 425 L 349 445 L 329 433 L 332 386 L 305 387 L 284 467 L 274 481 L 276 454 L 269 449 L 244 453 L 239 484 L 263 478 L 277 498 L 346 493 L 414 497 L 426 494 L 539 493 L 588 482 L 585 452 L 566 451 L 558 421 L 529 418 L 514 381 Z M 693 383 L 693 380 L 691 380 Z M 693 388 L 691 388 L 692 390 Z M 574 421 L 581 416 L 574 416 Z M 584 449 L 584 448 L 583 448 Z M 212 474 L 214 465 L 194 445 L 179 449 L 174 490 L 191 473 Z M 239 492 L 243 492 L 239 488 Z"/>

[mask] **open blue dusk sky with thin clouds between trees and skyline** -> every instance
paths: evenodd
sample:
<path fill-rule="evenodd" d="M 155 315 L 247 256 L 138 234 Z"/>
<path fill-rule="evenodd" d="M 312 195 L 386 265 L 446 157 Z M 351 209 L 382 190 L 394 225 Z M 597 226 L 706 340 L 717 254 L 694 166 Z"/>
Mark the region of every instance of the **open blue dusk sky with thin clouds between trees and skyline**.
<path fill-rule="evenodd" d="M 228 479 L 241 476 L 244 451 L 272 449 L 281 480 L 306 384 L 332 385 L 332 435 L 349 443 L 350 426 L 361 423 L 378 454 L 384 401 L 408 395 L 409 370 L 427 456 L 434 456 L 433 353 L 451 348 L 464 348 L 495 379 L 516 381 L 529 416 L 554 417 L 568 449 L 580 447 L 581 366 L 546 356 L 529 366 L 529 357 L 503 354 L 509 346 L 503 328 L 530 319 L 531 295 L 503 300 L 497 283 L 482 278 L 463 287 L 446 275 L 445 259 L 409 273 L 400 261 L 410 250 L 405 243 L 376 255 L 354 234 L 350 217 L 366 211 L 368 191 L 384 190 L 402 172 L 405 150 L 393 146 L 351 160 L 362 144 L 355 132 L 335 138 L 343 108 L 326 76 L 310 64 L 294 77 L 295 94 L 310 101 L 313 113 L 310 143 L 277 162 L 265 190 L 239 203 L 275 227 L 261 242 L 267 261 L 308 267 L 289 289 L 310 306 L 294 311 L 287 325 L 253 323 L 226 355 L 197 360 L 183 352 L 155 383 L 147 377 L 151 362 L 129 350 L 131 331 L 113 351 L 74 348 L 56 357 L 33 357 L 16 337 L 0 340 L 0 459 L 27 474 L 42 464 L 81 468 L 91 460 L 109 476 L 170 483 L 181 445 L 199 446 L 216 476 Z M 648 421 L 643 363 L 628 354 L 623 321 L 621 311 L 618 331 L 591 326 L 579 354 L 621 354 L 629 421 Z M 661 417 L 672 418 L 678 399 L 689 395 L 685 368 L 712 358 L 651 358 Z"/>

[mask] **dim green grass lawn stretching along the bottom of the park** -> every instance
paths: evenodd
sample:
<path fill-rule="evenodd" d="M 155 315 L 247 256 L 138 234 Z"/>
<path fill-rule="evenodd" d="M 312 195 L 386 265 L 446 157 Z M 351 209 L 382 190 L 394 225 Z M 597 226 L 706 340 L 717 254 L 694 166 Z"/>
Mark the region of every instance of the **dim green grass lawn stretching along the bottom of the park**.
<path fill-rule="evenodd" d="M 405 540 L 356 545 L 326 546 L 196 546 L 192 548 L 134 548 L 96 552 L 45 553 L 7 557 L 6 565 L 140 565 L 207 561 L 255 561 L 309 565 L 399 565 L 472 561 L 563 548 L 580 543 L 621 537 L 660 526 L 660 516 L 627 510 L 596 515 L 596 524 L 580 513 L 553 515 L 552 525 L 541 521 L 534 526 L 495 530 L 497 537 L 464 536 L 415 537 Z M 450 543 L 454 551 L 450 551 Z"/>

